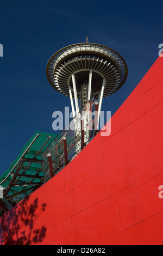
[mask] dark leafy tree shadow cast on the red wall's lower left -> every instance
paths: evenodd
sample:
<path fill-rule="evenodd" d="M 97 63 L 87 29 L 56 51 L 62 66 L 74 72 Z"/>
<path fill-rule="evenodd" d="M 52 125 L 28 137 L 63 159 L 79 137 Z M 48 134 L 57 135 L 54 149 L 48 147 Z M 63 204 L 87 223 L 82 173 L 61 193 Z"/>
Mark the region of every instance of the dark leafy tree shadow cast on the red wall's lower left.
<path fill-rule="evenodd" d="M 31 245 L 43 241 L 47 228 L 35 223 L 46 209 L 46 204 L 39 206 L 36 198 L 29 203 L 29 197 L 2 216 L 0 221 L 0 244 L 4 245 Z"/>

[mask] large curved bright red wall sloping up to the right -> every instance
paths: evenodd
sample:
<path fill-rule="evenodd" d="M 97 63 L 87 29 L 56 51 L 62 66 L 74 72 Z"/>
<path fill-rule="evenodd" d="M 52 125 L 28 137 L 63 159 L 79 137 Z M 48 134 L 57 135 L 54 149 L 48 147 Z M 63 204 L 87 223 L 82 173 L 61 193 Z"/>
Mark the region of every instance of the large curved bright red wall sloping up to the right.
<path fill-rule="evenodd" d="M 101 133 L 1 218 L 1 244 L 162 245 L 163 57 Z M 109 109 L 108 109 L 109 110 Z"/>

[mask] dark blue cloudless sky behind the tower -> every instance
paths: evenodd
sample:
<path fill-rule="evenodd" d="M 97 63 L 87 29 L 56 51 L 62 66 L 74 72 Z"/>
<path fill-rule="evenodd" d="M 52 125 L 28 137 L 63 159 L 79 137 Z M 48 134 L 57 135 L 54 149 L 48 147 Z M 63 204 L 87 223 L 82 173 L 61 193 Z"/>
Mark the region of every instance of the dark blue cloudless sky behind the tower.
<path fill-rule="evenodd" d="M 54 133 L 52 113 L 70 100 L 46 78 L 49 58 L 62 47 L 103 44 L 126 60 L 127 82 L 105 98 L 112 114 L 158 58 L 162 39 L 162 1 L 0 0 L 0 175 L 35 131 Z"/>

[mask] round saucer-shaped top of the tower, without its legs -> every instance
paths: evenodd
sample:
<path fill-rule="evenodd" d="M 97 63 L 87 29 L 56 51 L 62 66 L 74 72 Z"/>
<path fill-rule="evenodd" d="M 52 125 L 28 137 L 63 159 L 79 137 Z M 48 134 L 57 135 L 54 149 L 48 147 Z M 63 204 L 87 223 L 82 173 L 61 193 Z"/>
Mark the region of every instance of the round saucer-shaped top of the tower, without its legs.
<path fill-rule="evenodd" d="M 68 86 L 71 87 L 72 75 L 76 76 L 77 94 L 80 97 L 81 81 L 86 80 L 87 71 L 93 72 L 92 96 L 98 98 L 102 87 L 102 79 L 106 85 L 104 97 L 120 89 L 128 76 L 128 68 L 122 56 L 111 48 L 99 44 L 82 43 L 62 48 L 55 53 L 47 64 L 46 74 L 49 83 L 59 93 L 70 97 Z"/>

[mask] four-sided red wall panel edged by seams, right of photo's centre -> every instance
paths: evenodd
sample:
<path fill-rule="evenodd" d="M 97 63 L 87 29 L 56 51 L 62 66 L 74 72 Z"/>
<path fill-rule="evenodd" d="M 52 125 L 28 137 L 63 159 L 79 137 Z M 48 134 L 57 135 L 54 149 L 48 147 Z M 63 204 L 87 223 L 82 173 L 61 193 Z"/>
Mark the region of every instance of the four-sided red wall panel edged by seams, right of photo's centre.
<path fill-rule="evenodd" d="M 102 143 L 106 197 L 137 181 L 130 125 Z"/>

